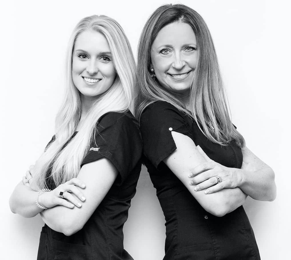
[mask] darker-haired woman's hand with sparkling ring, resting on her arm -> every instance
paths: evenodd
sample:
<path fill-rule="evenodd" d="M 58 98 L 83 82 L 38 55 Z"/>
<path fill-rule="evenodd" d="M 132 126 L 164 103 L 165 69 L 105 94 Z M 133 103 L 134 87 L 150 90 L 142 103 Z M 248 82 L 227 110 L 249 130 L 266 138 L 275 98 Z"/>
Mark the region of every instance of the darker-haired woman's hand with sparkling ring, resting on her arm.
<path fill-rule="evenodd" d="M 207 162 L 201 163 L 192 170 L 189 178 L 190 185 L 196 185 L 195 190 L 204 190 L 210 194 L 223 188 L 236 188 L 239 186 L 240 178 L 237 169 L 229 168 L 211 160 L 198 145 L 196 147 Z"/>

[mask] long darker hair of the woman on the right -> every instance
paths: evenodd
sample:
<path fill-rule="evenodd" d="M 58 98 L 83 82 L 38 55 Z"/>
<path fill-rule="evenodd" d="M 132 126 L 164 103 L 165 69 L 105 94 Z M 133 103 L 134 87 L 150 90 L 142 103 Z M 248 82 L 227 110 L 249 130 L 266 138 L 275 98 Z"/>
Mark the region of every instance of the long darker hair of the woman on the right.
<path fill-rule="evenodd" d="M 164 26 L 174 22 L 189 24 L 197 40 L 198 60 L 189 97 L 191 111 L 188 111 L 184 104 L 165 90 L 157 80 L 153 80 L 150 72 L 152 43 Z M 157 8 L 143 28 L 137 55 L 136 115 L 138 119 L 149 104 L 155 101 L 166 101 L 192 117 L 202 133 L 212 142 L 226 145 L 235 140 L 237 145 L 244 146 L 244 138 L 235 129 L 230 119 L 210 31 L 196 11 L 182 4 L 169 4 Z"/>

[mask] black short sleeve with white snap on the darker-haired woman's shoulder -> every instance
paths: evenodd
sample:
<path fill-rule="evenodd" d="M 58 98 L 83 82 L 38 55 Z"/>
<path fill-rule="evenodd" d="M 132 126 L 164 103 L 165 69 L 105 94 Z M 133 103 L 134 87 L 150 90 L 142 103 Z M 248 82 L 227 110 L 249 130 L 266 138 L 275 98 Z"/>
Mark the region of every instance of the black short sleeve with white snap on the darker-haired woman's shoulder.
<path fill-rule="evenodd" d="M 143 154 L 157 168 L 159 163 L 177 149 L 171 131 L 182 133 L 193 140 L 187 115 L 168 102 L 157 101 L 145 108 L 140 129 Z"/>

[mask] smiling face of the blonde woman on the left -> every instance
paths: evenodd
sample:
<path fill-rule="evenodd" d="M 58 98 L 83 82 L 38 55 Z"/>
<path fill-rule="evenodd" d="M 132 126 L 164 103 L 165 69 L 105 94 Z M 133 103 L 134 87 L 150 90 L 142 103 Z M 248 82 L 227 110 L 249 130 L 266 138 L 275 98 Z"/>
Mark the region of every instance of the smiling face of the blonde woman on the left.
<path fill-rule="evenodd" d="M 81 33 L 72 54 L 72 78 L 81 97 L 97 98 L 112 86 L 115 77 L 106 38 L 96 31 Z"/>

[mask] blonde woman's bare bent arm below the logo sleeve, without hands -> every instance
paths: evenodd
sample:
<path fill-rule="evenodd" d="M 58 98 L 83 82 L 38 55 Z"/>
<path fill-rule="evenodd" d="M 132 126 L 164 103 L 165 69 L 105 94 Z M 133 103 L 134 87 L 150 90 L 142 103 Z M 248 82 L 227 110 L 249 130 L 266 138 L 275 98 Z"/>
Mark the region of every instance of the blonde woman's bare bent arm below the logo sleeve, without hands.
<path fill-rule="evenodd" d="M 40 213 L 43 221 L 52 229 L 70 236 L 83 228 L 95 209 L 108 193 L 118 171 L 106 158 L 82 166 L 78 179 L 86 183 L 82 193 L 86 201 L 80 208 L 55 206 Z"/>

